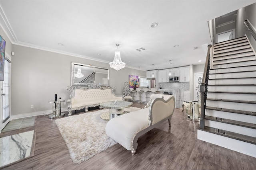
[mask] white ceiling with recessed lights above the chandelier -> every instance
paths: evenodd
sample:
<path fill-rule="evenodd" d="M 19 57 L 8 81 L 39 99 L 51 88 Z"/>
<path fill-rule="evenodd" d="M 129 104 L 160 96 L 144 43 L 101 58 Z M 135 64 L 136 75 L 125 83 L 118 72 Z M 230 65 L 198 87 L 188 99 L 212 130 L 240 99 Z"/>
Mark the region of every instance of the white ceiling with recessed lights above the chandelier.
<path fill-rule="evenodd" d="M 207 21 L 254 2 L 0 0 L 0 24 L 16 45 L 109 63 L 119 43 L 126 66 L 164 69 L 170 67 L 169 60 L 171 67 L 204 63 L 211 42 Z M 151 28 L 154 22 L 158 27 Z M 146 50 L 136 51 L 140 47 Z"/>

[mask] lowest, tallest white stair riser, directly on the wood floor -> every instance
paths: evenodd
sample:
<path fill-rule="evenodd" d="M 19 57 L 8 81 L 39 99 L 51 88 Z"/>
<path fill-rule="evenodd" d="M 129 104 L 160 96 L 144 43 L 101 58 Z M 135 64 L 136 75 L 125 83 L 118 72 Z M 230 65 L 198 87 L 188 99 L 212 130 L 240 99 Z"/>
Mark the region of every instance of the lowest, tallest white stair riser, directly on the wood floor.
<path fill-rule="evenodd" d="M 199 129 L 197 130 L 197 139 L 256 158 L 256 145 L 251 143 L 246 143 L 236 139 L 216 135 L 214 133 L 209 133 Z"/>

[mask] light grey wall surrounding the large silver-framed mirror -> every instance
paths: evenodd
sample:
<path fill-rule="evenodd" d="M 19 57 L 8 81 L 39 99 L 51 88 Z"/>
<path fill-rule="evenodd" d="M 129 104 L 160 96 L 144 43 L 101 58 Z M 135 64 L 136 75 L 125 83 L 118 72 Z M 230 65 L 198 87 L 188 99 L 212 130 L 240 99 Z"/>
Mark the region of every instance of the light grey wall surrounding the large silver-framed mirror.
<path fill-rule="evenodd" d="M 72 61 L 110 68 L 108 63 L 20 45 L 13 45 L 12 51 L 15 53 L 12 56 L 12 115 L 51 110 L 52 105 L 48 102 L 54 100 L 54 94 L 68 100 L 70 92 L 66 87 L 70 86 Z M 122 94 L 129 74 L 138 75 L 138 70 L 125 67 L 116 71 L 110 68 L 110 86 L 116 86 L 115 94 Z M 140 70 L 140 75 L 146 76 L 146 72 Z M 30 105 L 34 105 L 34 109 Z"/>

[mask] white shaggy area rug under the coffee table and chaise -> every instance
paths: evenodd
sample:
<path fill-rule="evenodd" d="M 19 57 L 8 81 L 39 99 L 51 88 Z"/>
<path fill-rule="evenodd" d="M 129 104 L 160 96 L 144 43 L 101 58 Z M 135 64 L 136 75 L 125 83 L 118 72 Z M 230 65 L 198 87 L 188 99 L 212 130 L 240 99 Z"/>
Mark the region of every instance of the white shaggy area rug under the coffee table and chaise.
<path fill-rule="evenodd" d="M 140 108 L 128 107 L 124 110 L 131 112 Z M 109 110 L 102 109 L 55 120 L 74 163 L 80 164 L 116 144 L 105 133 L 108 121 L 100 118 L 100 114 L 106 111 Z"/>

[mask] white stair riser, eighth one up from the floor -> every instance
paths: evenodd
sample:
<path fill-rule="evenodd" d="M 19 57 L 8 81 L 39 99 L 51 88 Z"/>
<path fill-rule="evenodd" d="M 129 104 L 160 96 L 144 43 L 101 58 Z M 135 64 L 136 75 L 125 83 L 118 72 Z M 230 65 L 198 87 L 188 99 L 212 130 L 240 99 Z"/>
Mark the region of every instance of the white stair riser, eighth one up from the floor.
<path fill-rule="evenodd" d="M 236 72 L 236 73 L 223 73 L 223 74 L 210 74 L 209 78 L 244 78 L 244 77 L 256 77 L 256 71 L 251 72 Z"/>

